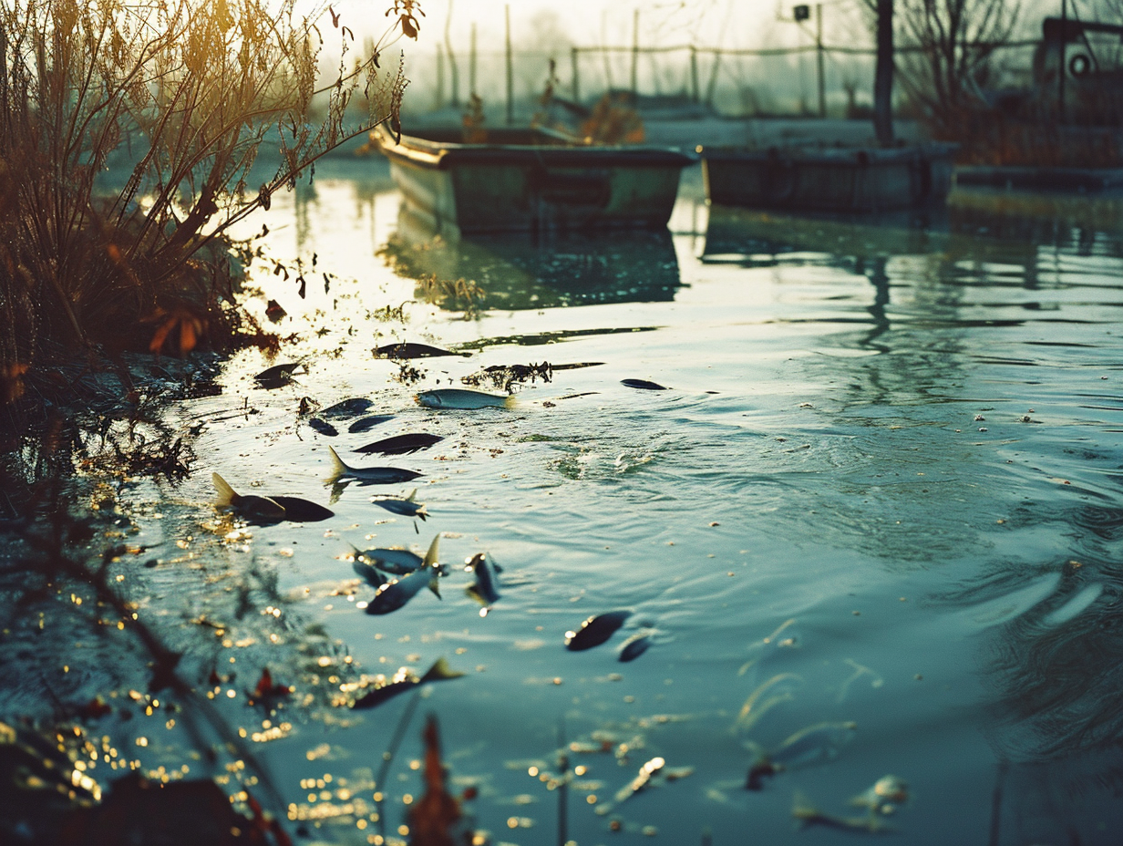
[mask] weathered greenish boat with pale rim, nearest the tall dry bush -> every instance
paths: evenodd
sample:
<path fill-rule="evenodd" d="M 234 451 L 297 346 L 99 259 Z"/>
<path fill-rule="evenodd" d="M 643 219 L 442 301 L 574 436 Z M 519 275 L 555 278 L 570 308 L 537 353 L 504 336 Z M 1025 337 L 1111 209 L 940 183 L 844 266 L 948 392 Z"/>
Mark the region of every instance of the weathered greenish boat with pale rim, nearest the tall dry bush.
<path fill-rule="evenodd" d="M 416 213 L 460 234 L 666 227 L 682 169 L 695 158 L 656 147 L 567 144 L 540 130 L 372 134 Z"/>

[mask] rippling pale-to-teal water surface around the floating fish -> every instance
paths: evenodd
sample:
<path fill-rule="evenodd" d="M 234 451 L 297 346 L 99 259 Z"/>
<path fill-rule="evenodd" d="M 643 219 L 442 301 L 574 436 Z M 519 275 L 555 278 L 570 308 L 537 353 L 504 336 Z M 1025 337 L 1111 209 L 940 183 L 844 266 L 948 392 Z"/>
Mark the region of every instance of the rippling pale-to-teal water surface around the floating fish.
<path fill-rule="evenodd" d="M 456 246 L 401 213 L 381 163 L 322 169 L 255 221 L 268 255 L 304 271 L 304 298 L 271 263 L 255 279 L 261 309 L 277 300 L 279 330 L 299 338 L 276 361 L 308 372 L 256 390 L 274 362 L 244 353 L 220 395 L 177 408 L 201 424 L 206 472 L 175 494 L 192 517 L 145 533 L 170 545 L 193 519 L 206 534 L 212 470 L 325 504 L 328 446 L 423 473 L 427 522 L 371 502 L 413 483 L 351 484 L 329 521 L 231 536 L 239 566 L 276 571 L 295 598 L 281 622 L 322 624 L 338 653 L 325 676 L 344 652 L 368 674 L 442 656 L 466 673 L 426 689 L 378 785 L 390 835 L 422 792 L 432 712 L 454 789 L 477 786 L 472 811 L 496 842 L 557 842 L 558 792 L 530 772 L 556 766 L 564 731 L 606 749 L 569 755 L 585 767 L 567 797 L 582 846 L 700 843 L 705 828 L 714 844 L 837 840 L 853 835 L 801 830 L 794 799 L 861 817 L 849 800 L 887 774 L 909 784 L 882 818 L 905 843 L 1119 843 L 1121 209 L 962 194 L 928 226 L 855 224 L 707 209 L 687 172 L 667 234 Z M 459 278 L 481 289 L 467 311 L 463 285 L 439 284 Z M 371 352 L 401 340 L 471 355 L 412 362 L 403 381 Z M 413 400 L 541 362 L 596 364 L 522 385 L 511 409 Z M 367 397 L 393 418 L 328 437 L 298 416 L 302 397 Z M 445 440 L 347 452 L 413 431 Z M 437 533 L 453 565 L 440 601 L 356 608 L 373 589 L 356 585 L 348 544 L 423 551 Z M 502 598 L 481 617 L 457 565 L 484 551 Z M 563 647 L 615 609 L 632 617 L 606 644 Z M 620 662 L 641 629 L 650 647 Z M 258 659 L 307 681 L 280 646 Z M 409 707 L 323 709 L 256 747 L 291 816 L 335 819 L 310 835 L 377 830 L 371 780 Z M 816 726 L 803 754 L 777 754 L 784 772 L 745 789 L 761 751 Z M 693 771 L 608 809 L 655 757 Z M 309 790 L 326 774 L 347 795 Z M 347 797 L 365 816 L 339 813 Z"/>

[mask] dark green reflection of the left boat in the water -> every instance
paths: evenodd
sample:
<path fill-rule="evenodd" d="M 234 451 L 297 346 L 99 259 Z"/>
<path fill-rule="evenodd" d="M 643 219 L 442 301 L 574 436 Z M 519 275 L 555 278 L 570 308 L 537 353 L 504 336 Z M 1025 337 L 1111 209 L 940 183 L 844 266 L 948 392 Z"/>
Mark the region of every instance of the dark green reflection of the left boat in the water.
<path fill-rule="evenodd" d="M 661 230 L 440 234 L 402 203 L 381 254 L 416 295 L 450 311 L 666 302 L 682 286 L 670 233 Z"/>

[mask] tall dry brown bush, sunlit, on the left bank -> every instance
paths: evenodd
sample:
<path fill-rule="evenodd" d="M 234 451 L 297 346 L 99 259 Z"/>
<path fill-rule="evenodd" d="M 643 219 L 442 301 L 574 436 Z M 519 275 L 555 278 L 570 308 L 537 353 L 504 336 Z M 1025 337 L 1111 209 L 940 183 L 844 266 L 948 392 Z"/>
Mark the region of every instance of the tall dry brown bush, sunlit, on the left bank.
<path fill-rule="evenodd" d="M 66 357 L 119 363 L 126 349 L 183 354 L 258 334 L 234 303 L 230 227 L 347 139 L 398 126 L 407 81 L 380 53 L 416 38 L 421 15 L 396 2 L 371 53 L 353 58 L 341 15 L 302 8 L 0 7 L 0 398 L 29 379 L 47 390 L 44 372 Z M 338 69 L 318 87 L 332 30 Z M 256 184 L 271 147 L 279 164 Z"/>

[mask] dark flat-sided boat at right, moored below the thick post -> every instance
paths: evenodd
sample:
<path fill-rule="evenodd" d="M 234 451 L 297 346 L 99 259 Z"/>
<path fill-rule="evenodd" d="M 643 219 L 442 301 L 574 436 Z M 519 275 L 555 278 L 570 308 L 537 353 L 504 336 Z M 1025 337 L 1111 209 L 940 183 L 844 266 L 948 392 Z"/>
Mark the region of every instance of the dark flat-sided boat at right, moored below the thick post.
<path fill-rule="evenodd" d="M 895 149 L 706 149 L 702 173 L 713 203 L 804 211 L 867 212 L 943 203 L 950 144 Z"/>

